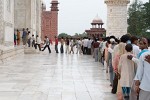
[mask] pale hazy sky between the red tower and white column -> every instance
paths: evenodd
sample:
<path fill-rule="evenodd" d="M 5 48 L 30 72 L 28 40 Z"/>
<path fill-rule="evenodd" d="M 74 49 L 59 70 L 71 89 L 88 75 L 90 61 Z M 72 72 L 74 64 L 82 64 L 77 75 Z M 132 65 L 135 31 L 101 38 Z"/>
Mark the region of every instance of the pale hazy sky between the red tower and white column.
<path fill-rule="evenodd" d="M 133 1 L 133 0 L 131 0 Z M 146 2 L 148 0 L 142 0 Z M 45 0 L 47 8 L 51 0 Z M 90 29 L 92 20 L 98 16 L 103 20 L 106 28 L 107 6 L 104 0 L 58 0 L 58 33 L 83 33 Z"/>

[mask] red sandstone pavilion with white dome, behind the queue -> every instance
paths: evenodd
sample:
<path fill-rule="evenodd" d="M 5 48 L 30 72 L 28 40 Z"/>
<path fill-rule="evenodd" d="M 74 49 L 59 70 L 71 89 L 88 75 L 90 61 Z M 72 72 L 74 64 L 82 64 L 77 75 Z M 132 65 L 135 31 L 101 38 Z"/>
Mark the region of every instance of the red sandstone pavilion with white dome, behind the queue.
<path fill-rule="evenodd" d="M 103 28 L 103 21 L 97 16 L 91 23 L 92 28 L 90 30 L 85 30 L 88 37 L 103 37 L 106 34 L 105 28 Z"/>

